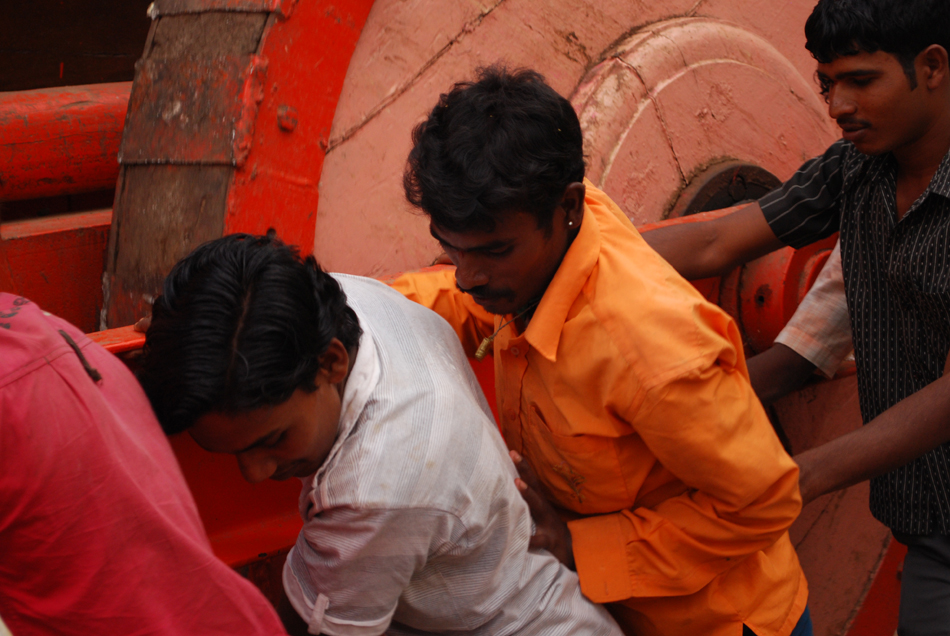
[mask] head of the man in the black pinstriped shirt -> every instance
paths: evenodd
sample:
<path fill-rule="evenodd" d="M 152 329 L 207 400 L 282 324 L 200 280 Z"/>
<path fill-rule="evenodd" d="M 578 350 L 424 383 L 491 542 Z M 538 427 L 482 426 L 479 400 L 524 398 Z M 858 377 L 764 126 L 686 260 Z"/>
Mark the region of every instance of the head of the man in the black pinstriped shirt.
<path fill-rule="evenodd" d="M 861 152 L 910 147 L 947 117 L 945 0 L 820 0 L 805 35 L 828 114 Z"/>

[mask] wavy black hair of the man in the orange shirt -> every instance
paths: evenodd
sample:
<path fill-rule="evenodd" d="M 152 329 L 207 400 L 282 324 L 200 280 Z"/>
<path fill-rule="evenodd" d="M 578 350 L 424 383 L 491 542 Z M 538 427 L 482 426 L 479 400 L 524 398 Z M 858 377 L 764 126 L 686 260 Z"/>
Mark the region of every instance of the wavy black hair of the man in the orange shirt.
<path fill-rule="evenodd" d="M 530 212 L 548 228 L 568 185 L 584 179 L 571 103 L 532 70 L 491 66 L 439 97 L 412 132 L 406 198 L 439 227 L 492 231 L 495 215 Z"/>

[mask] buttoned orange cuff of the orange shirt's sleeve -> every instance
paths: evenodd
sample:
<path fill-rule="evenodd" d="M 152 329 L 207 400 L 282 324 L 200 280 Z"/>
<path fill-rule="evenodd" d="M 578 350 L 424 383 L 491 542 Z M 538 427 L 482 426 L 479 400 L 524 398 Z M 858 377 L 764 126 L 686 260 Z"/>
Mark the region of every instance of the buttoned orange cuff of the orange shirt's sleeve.
<path fill-rule="evenodd" d="M 624 523 L 622 515 L 609 514 L 567 524 L 581 591 L 595 603 L 622 601 L 633 596 Z"/>

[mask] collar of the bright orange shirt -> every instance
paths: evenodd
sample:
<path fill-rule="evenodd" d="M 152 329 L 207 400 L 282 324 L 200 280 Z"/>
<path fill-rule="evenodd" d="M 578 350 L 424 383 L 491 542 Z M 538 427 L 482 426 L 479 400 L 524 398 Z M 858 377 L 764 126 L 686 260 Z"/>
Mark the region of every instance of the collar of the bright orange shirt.
<path fill-rule="evenodd" d="M 585 180 L 586 182 L 586 180 Z M 586 182 L 592 187 L 590 182 Z M 551 284 L 538 303 L 534 316 L 525 329 L 525 339 L 542 356 L 554 362 L 561 330 L 567 314 L 584 288 L 600 256 L 600 227 L 587 201 L 577 236 L 568 248 Z"/>

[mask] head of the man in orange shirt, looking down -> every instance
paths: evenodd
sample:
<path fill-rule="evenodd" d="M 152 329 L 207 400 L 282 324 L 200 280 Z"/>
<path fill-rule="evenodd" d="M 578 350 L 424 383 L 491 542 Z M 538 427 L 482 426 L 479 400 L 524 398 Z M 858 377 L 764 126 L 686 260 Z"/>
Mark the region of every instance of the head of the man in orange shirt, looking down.
<path fill-rule="evenodd" d="M 459 287 L 496 314 L 537 301 L 580 228 L 584 153 L 570 102 L 533 71 L 482 69 L 412 134 L 406 197 Z"/>

